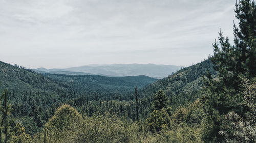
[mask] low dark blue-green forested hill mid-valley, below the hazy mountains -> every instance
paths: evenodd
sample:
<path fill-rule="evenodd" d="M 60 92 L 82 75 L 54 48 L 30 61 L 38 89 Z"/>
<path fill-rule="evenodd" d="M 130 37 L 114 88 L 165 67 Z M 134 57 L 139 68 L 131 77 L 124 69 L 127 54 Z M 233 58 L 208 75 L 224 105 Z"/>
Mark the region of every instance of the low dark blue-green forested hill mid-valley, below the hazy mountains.
<path fill-rule="evenodd" d="M 100 75 L 59 75 L 46 74 L 52 81 L 72 89 L 80 95 L 98 99 L 127 99 L 123 96 L 134 90 L 135 85 L 142 88 L 157 79 L 148 76 L 105 77 Z M 133 97 L 132 97 L 133 98 Z"/>

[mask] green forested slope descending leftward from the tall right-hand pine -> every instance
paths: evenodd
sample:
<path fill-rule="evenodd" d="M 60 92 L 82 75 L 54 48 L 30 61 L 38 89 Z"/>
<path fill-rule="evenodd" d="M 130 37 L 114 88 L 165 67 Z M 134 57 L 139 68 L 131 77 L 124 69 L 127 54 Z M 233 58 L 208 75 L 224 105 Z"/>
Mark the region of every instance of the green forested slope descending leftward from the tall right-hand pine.
<path fill-rule="evenodd" d="M 139 91 L 140 96 L 148 97 L 158 90 L 163 90 L 170 98 L 172 105 L 182 105 L 194 101 L 198 98 L 200 89 L 203 87 L 203 76 L 206 75 L 207 71 L 212 75 L 217 74 L 210 60 L 183 68 L 168 77 L 147 85 Z"/>

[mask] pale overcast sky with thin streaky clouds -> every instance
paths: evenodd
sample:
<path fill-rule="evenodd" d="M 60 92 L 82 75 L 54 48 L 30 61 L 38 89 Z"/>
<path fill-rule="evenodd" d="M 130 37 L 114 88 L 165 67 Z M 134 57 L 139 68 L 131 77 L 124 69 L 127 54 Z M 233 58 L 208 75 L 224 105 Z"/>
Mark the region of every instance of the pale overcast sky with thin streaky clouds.
<path fill-rule="evenodd" d="M 233 38 L 236 0 L 0 0 L 0 61 L 190 66 Z"/>

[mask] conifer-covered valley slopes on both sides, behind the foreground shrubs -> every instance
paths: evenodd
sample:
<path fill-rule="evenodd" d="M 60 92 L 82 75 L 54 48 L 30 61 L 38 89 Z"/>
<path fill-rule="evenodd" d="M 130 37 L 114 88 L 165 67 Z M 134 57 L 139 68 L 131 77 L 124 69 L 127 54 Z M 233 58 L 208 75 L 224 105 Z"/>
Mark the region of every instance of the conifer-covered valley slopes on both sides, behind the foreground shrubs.
<path fill-rule="evenodd" d="M 148 118 L 152 95 L 158 90 L 166 93 L 170 101 L 168 105 L 188 105 L 199 97 L 203 87 L 202 76 L 207 71 L 212 75 L 216 74 L 210 60 L 156 81 L 147 76 L 39 74 L 24 67 L 1 62 L 0 77 L 1 88 L 9 89 L 9 101 L 15 104 L 12 106 L 12 115 L 32 135 L 41 130 L 62 103 L 76 107 L 89 117 L 95 113 L 109 112 L 111 115 L 135 121 L 135 85 L 139 88 L 138 111 L 142 121 Z"/>

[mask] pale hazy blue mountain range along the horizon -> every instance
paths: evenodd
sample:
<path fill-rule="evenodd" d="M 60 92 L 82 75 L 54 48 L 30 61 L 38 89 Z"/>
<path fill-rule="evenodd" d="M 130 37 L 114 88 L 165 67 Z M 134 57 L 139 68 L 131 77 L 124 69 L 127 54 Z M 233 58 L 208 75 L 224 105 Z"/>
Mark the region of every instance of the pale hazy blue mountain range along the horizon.
<path fill-rule="evenodd" d="M 163 78 L 180 70 L 181 66 L 155 64 L 111 64 L 87 65 L 66 69 L 35 69 L 40 73 L 69 74 L 69 75 L 103 75 L 103 76 L 138 76 L 146 75 L 154 78 Z"/>

